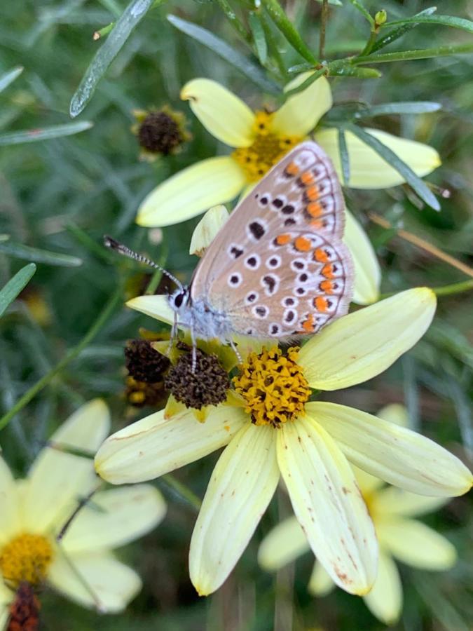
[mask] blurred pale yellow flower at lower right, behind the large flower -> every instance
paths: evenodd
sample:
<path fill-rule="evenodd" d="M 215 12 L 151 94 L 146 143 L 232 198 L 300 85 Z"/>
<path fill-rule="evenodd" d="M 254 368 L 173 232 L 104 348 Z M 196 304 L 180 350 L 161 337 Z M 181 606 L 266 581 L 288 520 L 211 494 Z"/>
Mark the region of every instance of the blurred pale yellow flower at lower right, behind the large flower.
<path fill-rule="evenodd" d="M 402 405 L 386 406 L 378 416 L 399 422 L 405 416 Z M 442 571 L 453 567 L 457 554 L 441 534 L 413 519 L 430 513 L 448 501 L 386 487 L 383 480 L 355 467 L 355 477 L 376 529 L 379 542 L 378 576 L 364 602 L 381 622 L 392 625 L 402 612 L 402 583 L 394 562 L 397 559 L 414 568 Z M 258 559 L 263 569 L 276 571 L 310 550 L 306 535 L 296 517 L 278 524 L 261 542 Z M 334 582 L 321 563 L 316 562 L 308 585 L 315 596 L 327 595 Z"/>

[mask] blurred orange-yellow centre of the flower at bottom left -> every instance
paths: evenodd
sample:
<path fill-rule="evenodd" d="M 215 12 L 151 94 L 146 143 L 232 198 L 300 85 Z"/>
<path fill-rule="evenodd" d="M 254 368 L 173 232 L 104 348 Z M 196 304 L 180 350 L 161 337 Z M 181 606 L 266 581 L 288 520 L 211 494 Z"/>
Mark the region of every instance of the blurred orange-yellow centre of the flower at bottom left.
<path fill-rule="evenodd" d="M 46 537 L 20 534 L 1 548 L 0 572 L 15 587 L 22 581 L 39 585 L 46 578 L 52 560 L 53 546 Z"/>

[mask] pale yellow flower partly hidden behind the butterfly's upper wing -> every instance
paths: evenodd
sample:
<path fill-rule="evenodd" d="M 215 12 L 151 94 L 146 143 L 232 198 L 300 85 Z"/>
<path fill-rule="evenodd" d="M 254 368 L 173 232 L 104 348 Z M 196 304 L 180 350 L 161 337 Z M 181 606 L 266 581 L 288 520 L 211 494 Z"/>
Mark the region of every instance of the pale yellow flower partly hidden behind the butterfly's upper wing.
<path fill-rule="evenodd" d="M 286 90 L 299 86 L 309 73 L 299 75 Z M 289 97 L 275 112 L 254 113 L 239 97 L 210 79 L 193 79 L 181 90 L 193 113 L 205 128 L 234 151 L 230 156 L 207 158 L 177 173 L 146 196 L 137 223 L 167 226 L 199 215 L 213 205 L 231 201 L 259 179 L 289 149 L 307 137 L 331 108 L 332 97 L 325 77 Z M 439 154 L 420 142 L 404 140 L 380 130 L 366 131 L 387 145 L 419 176 L 440 164 Z M 404 179 L 376 151 L 348 132 L 350 181 L 354 189 L 384 189 Z M 334 162 L 338 177 L 341 161 L 338 130 L 315 131 L 315 141 Z"/>

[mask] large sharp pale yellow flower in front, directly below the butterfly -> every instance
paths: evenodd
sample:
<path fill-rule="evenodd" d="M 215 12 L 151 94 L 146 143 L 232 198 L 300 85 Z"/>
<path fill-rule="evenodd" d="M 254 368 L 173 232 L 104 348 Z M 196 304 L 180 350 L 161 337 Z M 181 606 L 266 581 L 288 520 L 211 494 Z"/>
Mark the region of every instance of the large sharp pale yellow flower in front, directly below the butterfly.
<path fill-rule="evenodd" d="M 240 347 L 233 405 L 227 400 L 212 407 L 205 423 L 192 409 L 171 418 L 163 411 L 146 416 L 104 442 L 95 458 L 97 473 L 112 484 L 142 482 L 227 445 L 191 541 L 190 575 L 199 594 L 224 583 L 281 476 L 331 579 L 348 592 L 366 594 L 376 578 L 377 543 L 348 459 L 387 482 L 432 496 L 465 493 L 472 476 L 455 456 L 409 429 L 344 405 L 308 402 L 309 388 L 347 388 L 383 372 L 420 339 L 435 304 L 427 288 L 402 292 L 340 318 L 299 356 L 296 349 L 282 355 L 274 348 L 260 353 Z M 156 317 L 152 308 L 147 313 Z"/>

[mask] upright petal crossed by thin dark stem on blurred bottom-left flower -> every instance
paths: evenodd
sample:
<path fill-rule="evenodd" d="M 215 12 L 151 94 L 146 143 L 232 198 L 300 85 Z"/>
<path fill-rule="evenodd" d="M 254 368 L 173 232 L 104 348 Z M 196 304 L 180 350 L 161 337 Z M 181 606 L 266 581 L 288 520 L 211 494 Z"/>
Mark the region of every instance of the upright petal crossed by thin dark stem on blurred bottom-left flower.
<path fill-rule="evenodd" d="M 93 453 L 109 429 L 109 409 L 102 400 L 95 399 L 69 416 L 50 441 Z M 75 456 L 50 447 L 42 449 L 28 475 L 23 527 L 32 532 L 57 527 L 71 510 L 71 504 L 91 491 L 94 484 L 92 457 Z"/>

